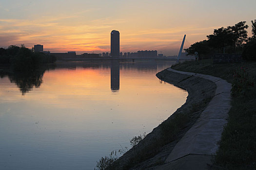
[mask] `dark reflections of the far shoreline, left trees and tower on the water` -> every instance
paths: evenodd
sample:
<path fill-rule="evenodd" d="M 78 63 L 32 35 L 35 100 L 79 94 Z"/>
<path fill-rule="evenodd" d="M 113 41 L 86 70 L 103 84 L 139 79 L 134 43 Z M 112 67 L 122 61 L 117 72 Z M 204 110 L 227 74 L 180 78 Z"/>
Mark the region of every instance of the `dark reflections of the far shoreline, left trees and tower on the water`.
<path fill-rule="evenodd" d="M 9 68 L 1 68 L 0 77 L 7 76 L 11 83 L 15 83 L 22 95 L 32 90 L 34 87 L 39 88 L 43 83 L 43 74 L 46 70 L 55 68 L 64 68 L 68 70 L 76 70 L 79 68 L 92 69 L 110 69 L 110 88 L 112 92 L 118 92 L 120 89 L 120 70 L 136 69 L 138 71 L 160 71 L 170 62 L 158 61 L 138 61 L 138 62 L 119 62 L 113 60 L 111 62 L 58 62 L 56 64 L 43 66 L 33 72 L 14 72 Z"/>

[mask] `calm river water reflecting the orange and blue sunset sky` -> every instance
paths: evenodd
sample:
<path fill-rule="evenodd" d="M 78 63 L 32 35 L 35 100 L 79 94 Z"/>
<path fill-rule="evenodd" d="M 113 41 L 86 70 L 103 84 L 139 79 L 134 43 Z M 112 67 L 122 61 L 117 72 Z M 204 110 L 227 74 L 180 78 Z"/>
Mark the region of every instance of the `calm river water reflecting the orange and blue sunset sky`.
<path fill-rule="evenodd" d="M 93 170 L 186 100 L 160 82 L 173 62 L 58 63 L 0 78 L 1 170 Z"/>

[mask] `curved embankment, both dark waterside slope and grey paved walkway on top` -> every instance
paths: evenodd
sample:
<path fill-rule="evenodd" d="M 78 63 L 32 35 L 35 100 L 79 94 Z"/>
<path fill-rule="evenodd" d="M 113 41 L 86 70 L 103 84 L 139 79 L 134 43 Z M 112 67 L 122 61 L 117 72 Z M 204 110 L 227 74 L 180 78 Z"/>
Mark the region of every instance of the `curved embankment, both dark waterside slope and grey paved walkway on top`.
<path fill-rule="evenodd" d="M 200 169 L 201 166 L 201 169 L 204 169 L 207 163 L 211 163 L 211 155 L 217 149 L 216 142 L 220 139 L 222 127 L 226 123 L 226 115 L 229 110 L 229 107 L 225 109 L 225 106 L 222 107 L 216 105 L 216 103 L 221 100 L 219 98 L 223 97 L 222 94 L 228 94 L 230 90 L 226 87 L 225 89 L 221 88 L 224 82 L 221 79 L 208 79 L 198 75 L 194 73 L 185 74 L 171 69 L 165 69 L 157 74 L 160 80 L 186 89 L 189 95 L 186 102 L 174 114 L 149 133 L 137 146 L 118 159 L 119 169 L 185 170 L 191 169 L 190 165 L 198 163 L 198 159 L 203 165 L 195 164 L 193 166 L 197 166 L 197 169 Z M 208 108 L 210 101 L 212 107 Z M 225 101 L 229 103 L 228 98 L 225 98 Z M 216 110 L 216 114 L 211 116 L 213 110 Z M 222 110 L 225 110 L 225 113 L 222 113 Z M 225 116 L 223 117 L 222 114 Z M 175 129 L 175 132 L 168 132 L 166 127 L 172 127 L 173 121 L 179 115 L 185 115 L 188 121 L 184 121 L 179 128 Z M 208 121 L 209 119 L 210 121 Z M 169 125 L 166 126 L 166 124 Z M 214 127 L 211 127 L 211 124 Z M 216 132 L 217 137 L 211 135 L 212 131 Z M 168 136 L 169 133 L 172 133 L 171 137 Z M 210 133 L 210 136 L 207 136 L 208 133 Z M 214 142 L 205 143 L 211 140 Z M 201 143 L 201 145 L 197 143 Z M 184 166 L 180 167 L 180 165 Z"/>

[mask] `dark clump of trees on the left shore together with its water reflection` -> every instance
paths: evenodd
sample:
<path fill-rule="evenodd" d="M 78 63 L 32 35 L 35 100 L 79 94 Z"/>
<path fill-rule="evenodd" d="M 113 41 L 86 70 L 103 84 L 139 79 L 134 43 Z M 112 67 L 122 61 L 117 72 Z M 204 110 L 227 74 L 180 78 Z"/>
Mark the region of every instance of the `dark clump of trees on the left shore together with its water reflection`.
<path fill-rule="evenodd" d="M 11 45 L 7 49 L 0 48 L 0 77 L 8 76 L 12 83 L 20 88 L 22 95 L 33 87 L 42 84 L 45 70 L 54 69 L 56 57 L 42 52 L 35 52 L 24 45 Z"/>

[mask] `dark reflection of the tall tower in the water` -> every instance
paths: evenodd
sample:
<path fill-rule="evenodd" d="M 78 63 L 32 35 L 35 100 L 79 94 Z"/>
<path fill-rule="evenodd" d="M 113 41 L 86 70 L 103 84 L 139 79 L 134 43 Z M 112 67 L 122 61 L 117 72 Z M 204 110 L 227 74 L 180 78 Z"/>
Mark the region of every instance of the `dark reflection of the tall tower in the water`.
<path fill-rule="evenodd" d="M 119 90 L 119 61 L 111 61 L 111 90 L 112 92 L 118 92 Z"/>

